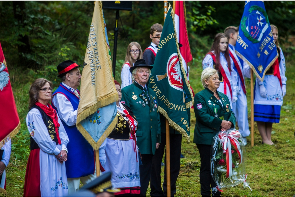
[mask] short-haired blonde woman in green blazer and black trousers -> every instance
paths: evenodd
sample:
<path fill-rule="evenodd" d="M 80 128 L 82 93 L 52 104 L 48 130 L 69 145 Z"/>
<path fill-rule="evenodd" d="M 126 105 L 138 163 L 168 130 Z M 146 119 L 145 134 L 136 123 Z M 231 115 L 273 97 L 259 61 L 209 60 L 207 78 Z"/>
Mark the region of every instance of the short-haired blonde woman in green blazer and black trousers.
<path fill-rule="evenodd" d="M 213 137 L 220 130 L 235 128 L 236 118 L 234 112 L 230 109 L 228 97 L 217 91 L 219 87 L 217 70 L 213 68 L 204 69 L 201 82 L 205 89 L 198 92 L 194 98 L 196 115 L 194 143 L 196 143 L 201 157 L 201 195 L 211 196 L 210 188 L 216 187 L 210 172 L 210 150 Z M 212 193 L 212 196 L 220 196 L 220 192 Z"/>

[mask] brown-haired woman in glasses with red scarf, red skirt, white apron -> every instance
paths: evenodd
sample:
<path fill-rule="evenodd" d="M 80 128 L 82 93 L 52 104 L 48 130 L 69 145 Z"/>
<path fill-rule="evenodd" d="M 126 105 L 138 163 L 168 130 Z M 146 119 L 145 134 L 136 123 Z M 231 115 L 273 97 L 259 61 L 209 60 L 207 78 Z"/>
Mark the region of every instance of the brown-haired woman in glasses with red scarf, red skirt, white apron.
<path fill-rule="evenodd" d="M 36 79 L 30 87 L 27 127 L 31 152 L 24 182 L 24 196 L 68 195 L 65 161 L 68 135 L 56 111 L 49 104 L 52 83 Z"/>

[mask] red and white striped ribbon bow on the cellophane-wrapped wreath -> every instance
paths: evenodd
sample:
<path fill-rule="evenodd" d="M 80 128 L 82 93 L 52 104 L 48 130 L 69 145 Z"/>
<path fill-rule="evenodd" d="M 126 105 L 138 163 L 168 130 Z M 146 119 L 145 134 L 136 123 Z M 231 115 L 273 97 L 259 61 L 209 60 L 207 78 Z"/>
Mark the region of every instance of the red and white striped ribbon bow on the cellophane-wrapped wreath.
<path fill-rule="evenodd" d="M 240 157 L 239 164 L 242 162 L 243 154 L 238 141 L 241 137 L 241 133 L 237 130 L 221 132 L 218 135 L 218 140 L 222 143 L 223 153 L 226 153 L 226 178 L 232 177 L 232 148 L 230 144 L 232 144 Z"/>

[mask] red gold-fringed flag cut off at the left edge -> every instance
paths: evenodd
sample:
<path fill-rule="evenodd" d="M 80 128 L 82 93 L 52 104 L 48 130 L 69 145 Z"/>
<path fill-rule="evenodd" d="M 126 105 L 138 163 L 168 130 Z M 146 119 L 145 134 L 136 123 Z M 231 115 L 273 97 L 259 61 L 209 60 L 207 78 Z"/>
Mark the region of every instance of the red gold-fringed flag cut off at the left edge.
<path fill-rule="evenodd" d="M 20 129 L 14 96 L 10 84 L 8 69 L 0 43 L 0 148 Z"/>

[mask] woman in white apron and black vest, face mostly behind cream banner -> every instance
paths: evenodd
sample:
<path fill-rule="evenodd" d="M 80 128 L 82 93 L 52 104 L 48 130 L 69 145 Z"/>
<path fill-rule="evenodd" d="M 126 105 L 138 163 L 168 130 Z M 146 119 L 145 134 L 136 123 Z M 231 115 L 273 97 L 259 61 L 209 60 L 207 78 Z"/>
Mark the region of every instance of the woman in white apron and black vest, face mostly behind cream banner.
<path fill-rule="evenodd" d="M 108 136 L 104 169 L 112 172 L 112 185 L 121 191 L 116 196 L 139 196 L 139 155 L 135 133 L 138 122 L 132 110 L 121 103 L 121 87 L 115 80 L 119 95 L 117 100 L 118 124 Z"/>

